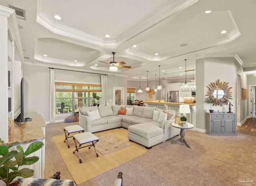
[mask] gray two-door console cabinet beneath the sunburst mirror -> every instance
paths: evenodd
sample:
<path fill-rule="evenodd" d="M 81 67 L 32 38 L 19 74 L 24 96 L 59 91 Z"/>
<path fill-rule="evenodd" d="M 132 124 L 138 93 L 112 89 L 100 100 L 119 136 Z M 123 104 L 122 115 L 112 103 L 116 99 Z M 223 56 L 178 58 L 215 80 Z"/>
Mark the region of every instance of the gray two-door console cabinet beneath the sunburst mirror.
<path fill-rule="evenodd" d="M 206 133 L 209 135 L 236 135 L 236 114 L 206 113 Z"/>

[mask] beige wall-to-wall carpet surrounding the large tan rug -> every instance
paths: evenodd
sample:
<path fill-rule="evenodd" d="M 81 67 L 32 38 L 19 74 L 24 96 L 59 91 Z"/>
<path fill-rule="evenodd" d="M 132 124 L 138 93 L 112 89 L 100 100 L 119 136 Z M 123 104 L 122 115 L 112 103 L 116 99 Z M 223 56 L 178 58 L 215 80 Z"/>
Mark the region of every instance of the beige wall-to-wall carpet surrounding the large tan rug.
<path fill-rule="evenodd" d="M 52 136 L 64 133 L 64 126 L 76 123 L 54 123 L 46 126 L 46 164 L 44 177 L 61 172 L 62 179 L 71 179 Z M 186 130 L 183 143 L 172 144 L 179 137 L 149 150 L 79 186 L 111 186 L 119 171 L 124 186 L 229 186 L 237 185 L 236 173 L 256 180 L 256 137 L 210 136 Z M 255 183 L 254 181 L 253 183 Z"/>

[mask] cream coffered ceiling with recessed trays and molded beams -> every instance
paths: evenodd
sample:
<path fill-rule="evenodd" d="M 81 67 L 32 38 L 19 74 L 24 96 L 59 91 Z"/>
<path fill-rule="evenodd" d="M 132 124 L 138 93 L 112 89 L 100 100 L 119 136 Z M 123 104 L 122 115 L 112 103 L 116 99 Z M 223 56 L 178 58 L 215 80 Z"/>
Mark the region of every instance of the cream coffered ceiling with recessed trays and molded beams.
<path fill-rule="evenodd" d="M 154 80 L 158 65 L 161 78 L 180 77 L 182 72 L 174 72 L 185 70 L 184 59 L 190 70 L 201 57 L 236 56 L 249 74 L 256 70 L 255 0 L 1 0 L 0 4 L 26 11 L 26 20 L 17 19 L 23 27 L 23 53 L 30 58 L 25 66 L 104 72 L 128 79 L 143 79 L 148 70 L 149 80 Z M 113 51 L 114 61 L 131 68 L 111 72 L 106 63 L 113 61 Z"/>

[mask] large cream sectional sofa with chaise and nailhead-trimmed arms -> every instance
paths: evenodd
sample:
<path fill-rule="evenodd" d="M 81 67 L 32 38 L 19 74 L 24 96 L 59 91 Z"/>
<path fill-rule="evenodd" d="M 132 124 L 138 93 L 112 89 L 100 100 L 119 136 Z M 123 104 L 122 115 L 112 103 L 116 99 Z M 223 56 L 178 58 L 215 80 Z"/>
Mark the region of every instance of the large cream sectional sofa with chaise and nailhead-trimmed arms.
<path fill-rule="evenodd" d="M 126 115 L 118 114 L 121 107 L 126 108 Z M 171 120 L 166 120 L 166 117 L 162 120 L 158 114 L 162 111 L 154 107 L 123 105 L 80 108 L 79 125 L 92 133 L 117 127 L 127 128 L 130 141 L 150 149 L 180 133 L 180 129 L 172 127 L 175 111 L 167 111 L 173 115 Z M 166 114 L 161 113 L 161 116 Z"/>

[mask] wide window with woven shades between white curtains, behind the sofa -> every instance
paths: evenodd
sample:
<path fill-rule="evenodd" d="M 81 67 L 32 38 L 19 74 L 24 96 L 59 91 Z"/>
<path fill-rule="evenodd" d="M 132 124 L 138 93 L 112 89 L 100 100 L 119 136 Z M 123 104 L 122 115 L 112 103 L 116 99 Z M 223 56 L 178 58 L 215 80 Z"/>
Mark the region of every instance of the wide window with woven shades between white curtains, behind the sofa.
<path fill-rule="evenodd" d="M 65 114 L 82 107 L 93 106 L 94 103 L 101 104 L 100 84 L 55 82 L 55 86 L 56 114 Z M 99 96 L 98 101 L 92 97 L 92 92 L 96 92 Z"/>

